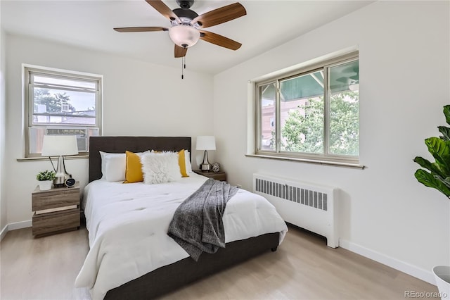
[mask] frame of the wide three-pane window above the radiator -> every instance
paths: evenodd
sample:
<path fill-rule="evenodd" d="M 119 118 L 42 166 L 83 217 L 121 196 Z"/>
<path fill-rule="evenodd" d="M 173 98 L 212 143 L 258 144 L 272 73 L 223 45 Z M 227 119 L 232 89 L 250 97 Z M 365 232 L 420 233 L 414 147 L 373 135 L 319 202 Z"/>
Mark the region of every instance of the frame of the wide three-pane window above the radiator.
<path fill-rule="evenodd" d="M 259 156 L 262 158 L 280 158 L 280 159 L 288 159 L 295 161 L 307 161 L 311 163 L 325 163 L 330 165 L 349 165 L 362 167 L 359 165 L 359 155 L 358 156 L 347 156 L 347 155 L 336 155 L 336 154 L 328 154 L 328 135 L 329 135 L 329 93 L 328 93 L 328 83 L 324 85 L 324 103 L 323 103 L 323 154 L 307 154 L 300 152 L 291 152 L 291 151 L 281 151 L 281 122 L 280 122 L 280 96 L 279 96 L 279 82 L 281 80 L 285 80 L 289 77 L 295 77 L 298 75 L 302 75 L 304 73 L 311 73 L 314 70 L 319 70 L 325 68 L 324 82 L 328 82 L 328 68 L 333 67 L 335 65 L 340 65 L 342 63 L 348 63 L 350 61 L 359 61 L 359 51 L 352 51 L 350 53 L 334 56 L 332 58 L 326 58 L 322 61 L 317 62 L 315 60 L 314 63 L 304 63 L 300 68 L 290 69 L 288 71 L 276 72 L 274 75 L 266 75 L 262 80 L 252 81 L 252 101 L 254 101 L 255 108 L 255 131 L 253 132 L 254 140 L 254 149 L 253 154 L 249 153 L 248 156 Z M 326 81 L 325 81 L 326 80 Z M 268 85 L 270 83 L 275 83 L 276 85 L 276 99 L 275 99 L 275 111 L 276 111 L 276 149 L 275 150 L 264 150 L 260 149 L 262 145 L 262 101 L 259 99 L 259 87 Z"/>

